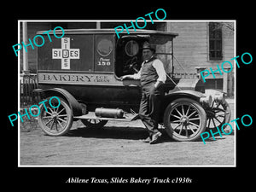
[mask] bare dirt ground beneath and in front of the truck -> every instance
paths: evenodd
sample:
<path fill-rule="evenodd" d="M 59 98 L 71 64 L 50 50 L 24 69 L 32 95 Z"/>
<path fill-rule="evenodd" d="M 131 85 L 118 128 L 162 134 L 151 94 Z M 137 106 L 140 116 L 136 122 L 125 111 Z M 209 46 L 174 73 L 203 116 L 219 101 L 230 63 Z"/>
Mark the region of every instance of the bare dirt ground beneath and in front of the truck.
<path fill-rule="evenodd" d="M 232 120 L 234 100 L 228 102 Z M 49 137 L 34 119 L 20 123 L 20 166 L 235 166 L 234 132 L 204 144 L 175 142 L 161 131 L 161 143 L 150 145 L 141 141 L 147 131 L 140 120 L 102 129 L 77 121 L 67 136 Z"/>

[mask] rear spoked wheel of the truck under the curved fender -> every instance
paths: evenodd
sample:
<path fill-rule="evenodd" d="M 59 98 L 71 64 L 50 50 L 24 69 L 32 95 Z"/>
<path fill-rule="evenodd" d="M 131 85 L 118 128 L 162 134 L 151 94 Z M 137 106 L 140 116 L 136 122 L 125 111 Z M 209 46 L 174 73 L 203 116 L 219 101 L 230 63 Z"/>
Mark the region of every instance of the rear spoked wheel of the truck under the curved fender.
<path fill-rule="evenodd" d="M 52 108 L 48 102 L 45 102 L 45 107 L 40 106 L 40 115 L 38 116 L 38 124 L 42 130 L 49 136 L 62 136 L 70 130 L 73 124 L 73 113 L 67 102 L 61 97 L 61 104 L 56 99 L 51 100 L 51 105 L 58 108 Z"/>

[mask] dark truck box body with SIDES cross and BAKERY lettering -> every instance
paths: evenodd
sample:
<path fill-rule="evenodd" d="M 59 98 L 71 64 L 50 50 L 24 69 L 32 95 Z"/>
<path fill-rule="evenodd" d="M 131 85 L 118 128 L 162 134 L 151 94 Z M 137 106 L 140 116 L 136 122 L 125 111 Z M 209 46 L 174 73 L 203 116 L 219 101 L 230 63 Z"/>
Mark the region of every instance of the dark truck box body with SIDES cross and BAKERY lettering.
<path fill-rule="evenodd" d="M 38 48 L 39 88 L 63 88 L 91 110 L 105 105 L 137 108 L 139 87 L 124 86 L 114 74 L 113 32 L 67 30 L 62 38 L 49 33 L 52 42 L 43 33 L 38 32 L 44 37 L 44 46 Z"/>

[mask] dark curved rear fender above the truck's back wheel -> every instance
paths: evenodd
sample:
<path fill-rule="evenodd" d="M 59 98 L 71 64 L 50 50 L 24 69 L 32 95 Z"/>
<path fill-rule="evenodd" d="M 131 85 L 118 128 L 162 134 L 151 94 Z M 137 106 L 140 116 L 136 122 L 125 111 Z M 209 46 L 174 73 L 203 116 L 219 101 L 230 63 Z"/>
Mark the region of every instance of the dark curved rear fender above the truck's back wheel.
<path fill-rule="evenodd" d="M 61 88 L 52 88 L 48 90 L 33 90 L 34 92 L 43 93 L 45 97 L 60 96 L 68 102 L 69 107 L 73 111 L 74 116 L 82 115 L 82 107 L 79 102 L 67 91 Z"/>

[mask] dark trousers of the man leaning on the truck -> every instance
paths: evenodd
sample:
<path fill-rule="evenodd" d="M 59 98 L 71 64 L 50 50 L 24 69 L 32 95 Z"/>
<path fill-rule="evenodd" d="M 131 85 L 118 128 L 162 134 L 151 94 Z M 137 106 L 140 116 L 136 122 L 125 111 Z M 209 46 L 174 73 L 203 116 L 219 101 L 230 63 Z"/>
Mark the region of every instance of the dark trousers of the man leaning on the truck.
<path fill-rule="evenodd" d="M 140 103 L 139 115 L 143 124 L 148 129 L 149 137 L 158 132 L 158 121 L 160 113 L 160 100 L 163 96 L 161 87 L 154 88 L 154 83 L 147 84 L 142 88 L 142 99 Z"/>

